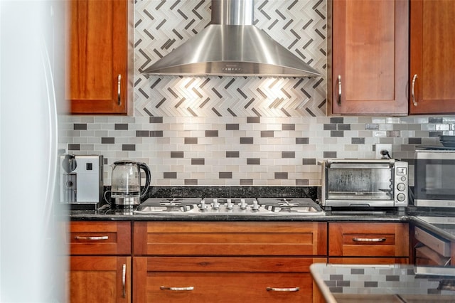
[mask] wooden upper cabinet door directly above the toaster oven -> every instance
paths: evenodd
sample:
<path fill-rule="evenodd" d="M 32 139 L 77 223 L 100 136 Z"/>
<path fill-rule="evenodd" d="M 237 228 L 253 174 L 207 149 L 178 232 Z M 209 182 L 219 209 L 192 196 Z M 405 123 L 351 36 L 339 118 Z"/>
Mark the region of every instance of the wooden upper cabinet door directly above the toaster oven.
<path fill-rule="evenodd" d="M 408 0 L 328 1 L 328 114 L 407 115 Z"/>

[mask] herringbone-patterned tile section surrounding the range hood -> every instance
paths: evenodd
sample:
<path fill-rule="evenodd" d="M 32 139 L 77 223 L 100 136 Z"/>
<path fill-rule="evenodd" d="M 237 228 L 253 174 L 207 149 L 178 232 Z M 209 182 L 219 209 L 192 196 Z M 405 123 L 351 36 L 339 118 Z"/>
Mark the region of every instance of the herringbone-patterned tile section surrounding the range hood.
<path fill-rule="evenodd" d="M 323 115 L 319 78 L 146 76 L 140 70 L 210 23 L 210 0 L 135 2 L 135 115 L 158 117 L 311 117 Z M 255 26 L 323 75 L 326 1 L 256 0 Z"/>

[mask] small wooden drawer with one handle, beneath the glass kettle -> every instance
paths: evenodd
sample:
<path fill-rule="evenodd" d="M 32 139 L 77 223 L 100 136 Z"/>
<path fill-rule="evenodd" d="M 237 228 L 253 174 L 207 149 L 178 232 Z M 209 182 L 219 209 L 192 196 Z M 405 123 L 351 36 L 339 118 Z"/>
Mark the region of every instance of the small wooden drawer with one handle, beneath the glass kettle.
<path fill-rule="evenodd" d="M 131 223 L 70 222 L 70 255 L 130 255 Z"/>

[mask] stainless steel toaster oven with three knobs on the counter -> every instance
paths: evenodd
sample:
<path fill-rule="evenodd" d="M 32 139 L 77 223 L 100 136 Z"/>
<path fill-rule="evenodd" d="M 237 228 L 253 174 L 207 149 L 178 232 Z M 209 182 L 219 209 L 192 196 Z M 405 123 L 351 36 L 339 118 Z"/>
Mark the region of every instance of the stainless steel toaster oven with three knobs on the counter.
<path fill-rule="evenodd" d="M 321 162 L 319 203 L 324 208 L 400 207 L 408 204 L 408 164 L 395 159 Z"/>

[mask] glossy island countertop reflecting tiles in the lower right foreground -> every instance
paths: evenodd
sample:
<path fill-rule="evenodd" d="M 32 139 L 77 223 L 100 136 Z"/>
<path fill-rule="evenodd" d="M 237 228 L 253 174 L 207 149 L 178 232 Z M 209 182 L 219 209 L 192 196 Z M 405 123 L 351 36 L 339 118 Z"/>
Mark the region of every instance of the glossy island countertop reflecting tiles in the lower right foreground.
<path fill-rule="evenodd" d="M 413 265 L 310 266 L 328 303 L 455 302 L 455 277 L 416 275 Z"/>

